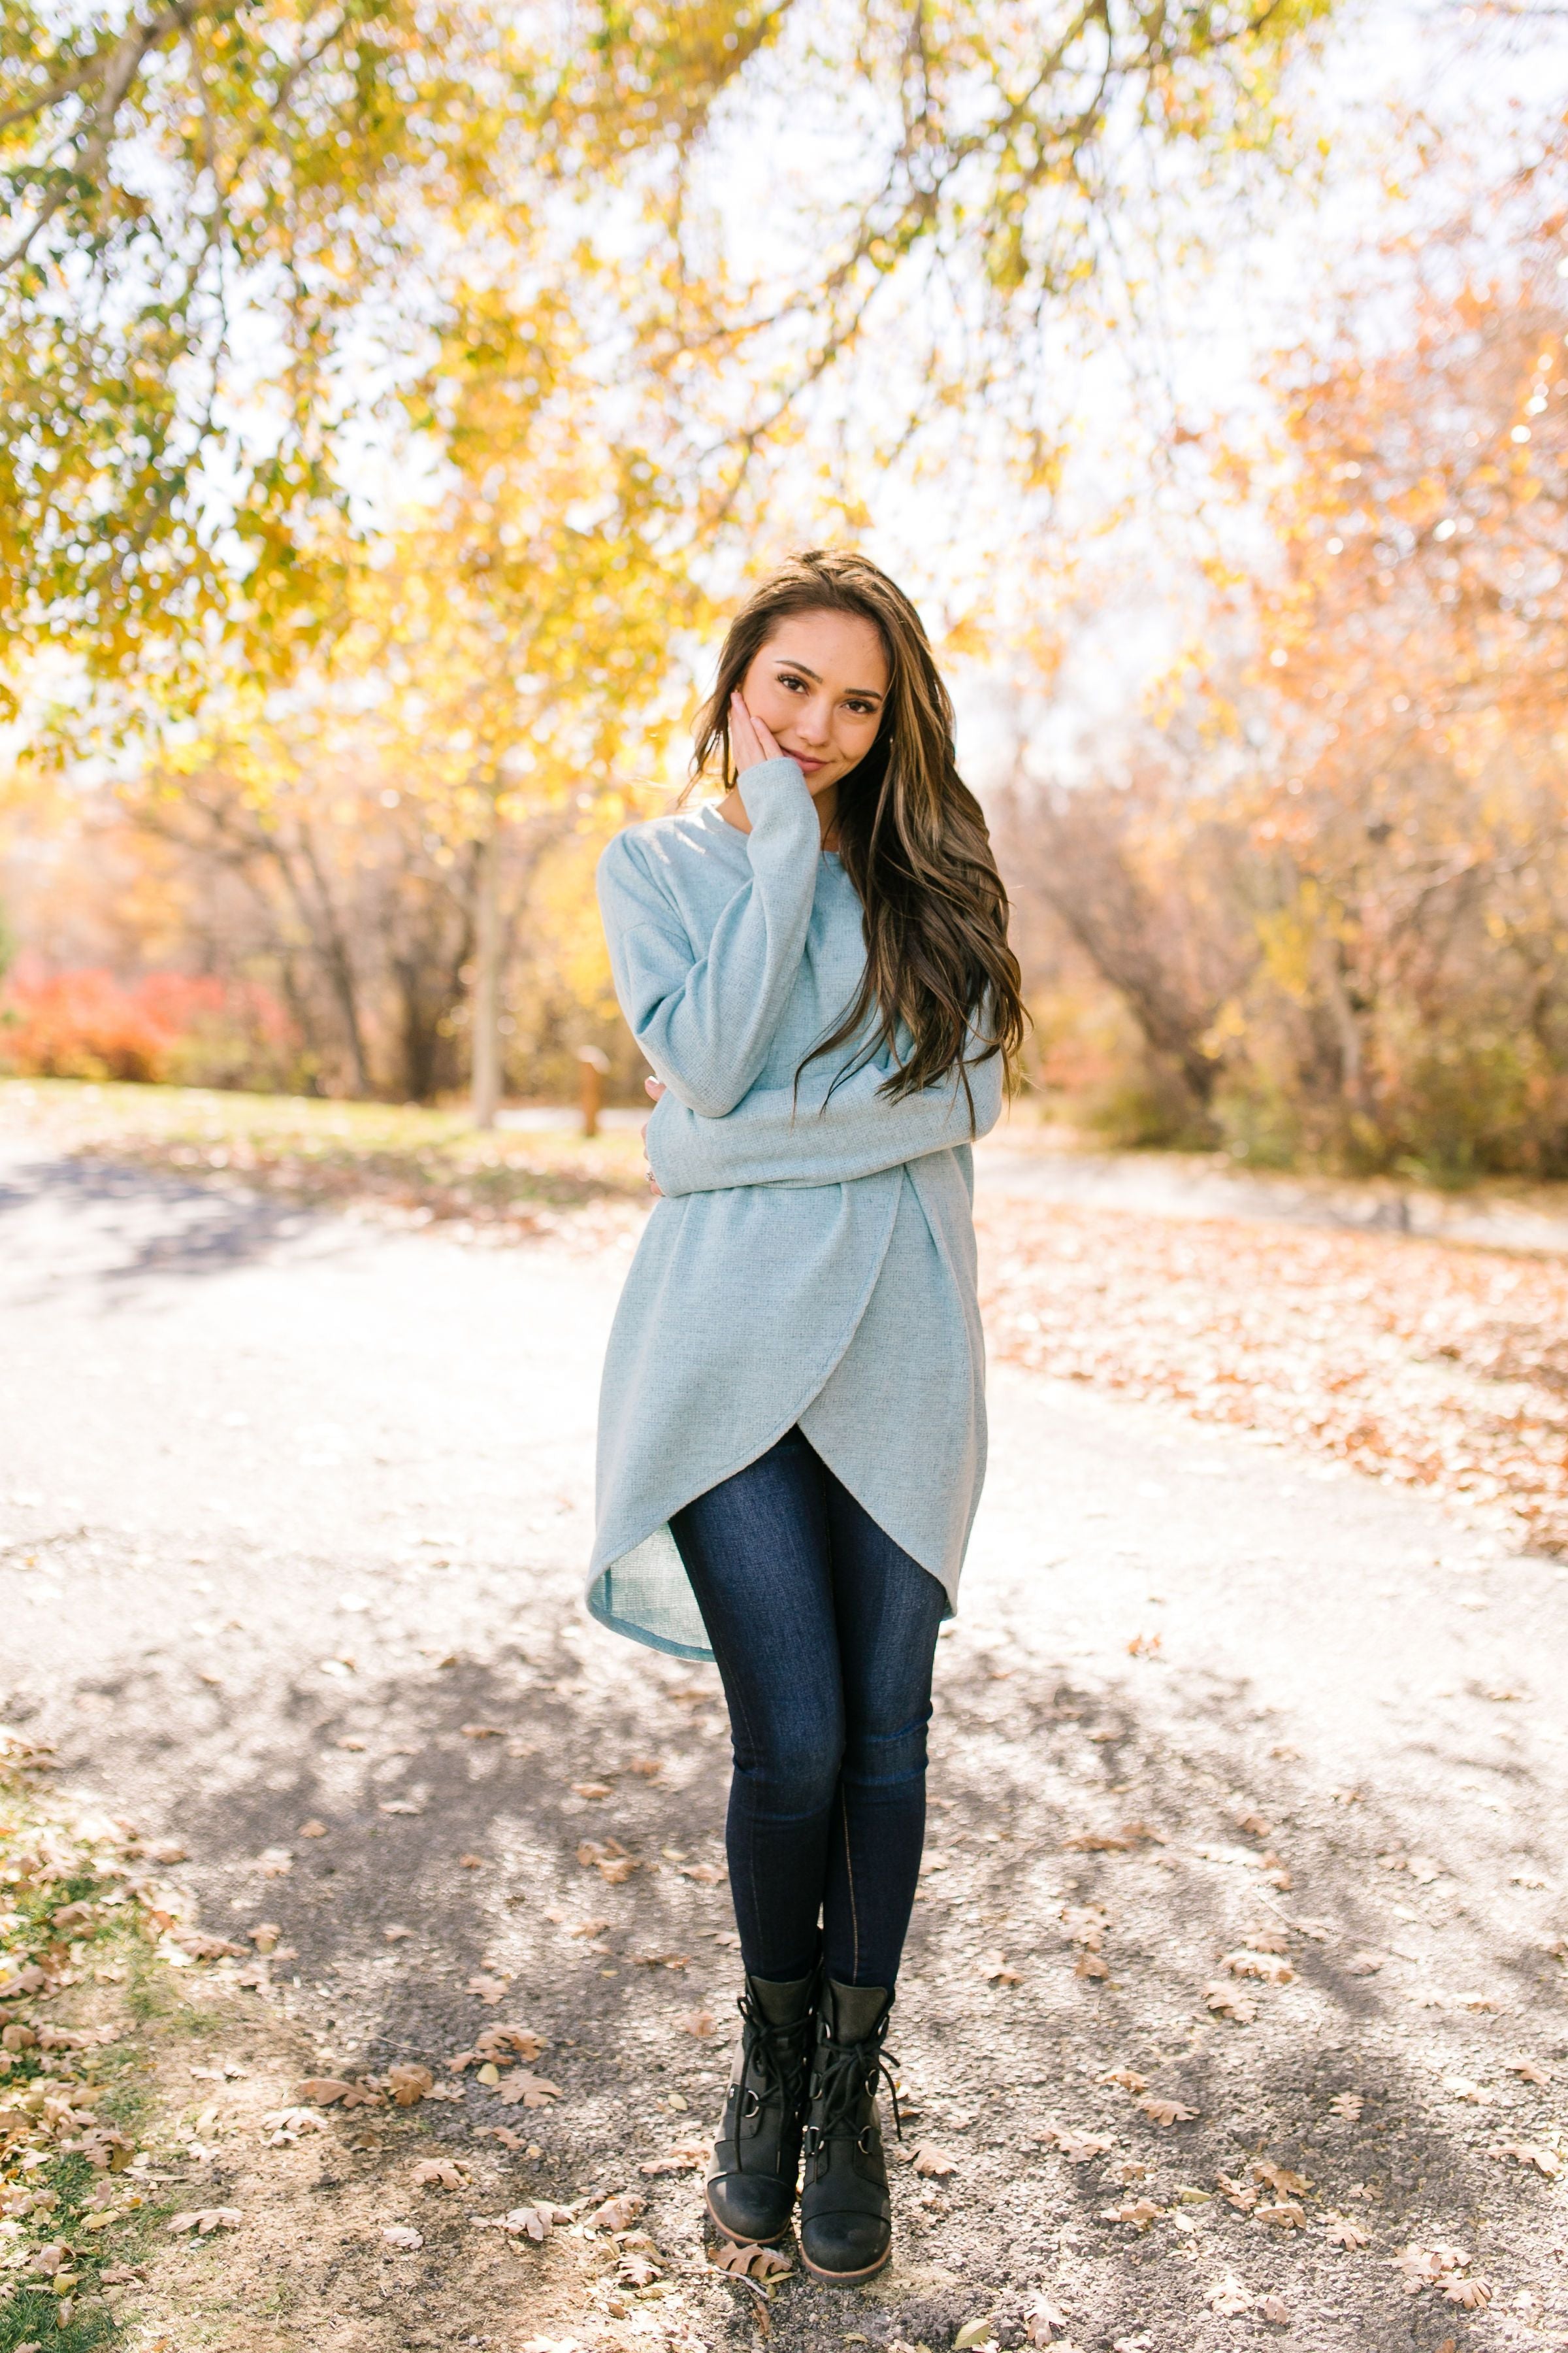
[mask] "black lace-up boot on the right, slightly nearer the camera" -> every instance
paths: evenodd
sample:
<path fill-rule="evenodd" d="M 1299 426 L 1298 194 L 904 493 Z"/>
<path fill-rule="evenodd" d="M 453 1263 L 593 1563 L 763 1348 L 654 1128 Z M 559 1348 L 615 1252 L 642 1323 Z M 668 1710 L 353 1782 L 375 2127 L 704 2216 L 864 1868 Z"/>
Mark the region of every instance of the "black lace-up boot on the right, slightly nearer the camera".
<path fill-rule="evenodd" d="M 877 2078 L 893 1998 L 884 1986 L 823 1979 L 799 2193 L 799 2249 L 818 2280 L 870 2280 L 893 2252 L 893 2202 L 877 2120 Z M 898 2122 L 898 2092 L 893 2092 Z"/>

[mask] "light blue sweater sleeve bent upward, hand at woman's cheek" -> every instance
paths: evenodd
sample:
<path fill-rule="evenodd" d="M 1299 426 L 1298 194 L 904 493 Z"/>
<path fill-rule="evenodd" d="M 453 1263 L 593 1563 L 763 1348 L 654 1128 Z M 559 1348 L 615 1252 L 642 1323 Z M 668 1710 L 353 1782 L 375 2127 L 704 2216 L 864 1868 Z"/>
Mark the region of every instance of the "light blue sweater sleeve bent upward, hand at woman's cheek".
<path fill-rule="evenodd" d="M 621 1012 L 670 1089 L 665 1101 L 710 1120 L 733 1111 L 766 1061 L 806 948 L 823 849 L 795 760 L 750 767 L 741 800 L 752 821 L 750 875 L 701 955 L 628 835 L 599 859 Z"/>

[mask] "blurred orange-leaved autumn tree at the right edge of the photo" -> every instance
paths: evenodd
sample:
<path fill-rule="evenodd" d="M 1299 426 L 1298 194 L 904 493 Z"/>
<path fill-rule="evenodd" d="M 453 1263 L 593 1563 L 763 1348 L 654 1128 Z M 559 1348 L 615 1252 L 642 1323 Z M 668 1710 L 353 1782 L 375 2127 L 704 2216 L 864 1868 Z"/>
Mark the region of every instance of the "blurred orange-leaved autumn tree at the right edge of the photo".
<path fill-rule="evenodd" d="M 1568 1174 L 1554 245 L 1467 275 L 1469 240 L 1434 242 L 1403 341 L 1380 315 L 1286 365 L 1276 576 L 1227 584 L 1208 668 L 1119 784 L 1016 795 L 1018 896 L 1182 1082 L 1168 1139 Z"/>

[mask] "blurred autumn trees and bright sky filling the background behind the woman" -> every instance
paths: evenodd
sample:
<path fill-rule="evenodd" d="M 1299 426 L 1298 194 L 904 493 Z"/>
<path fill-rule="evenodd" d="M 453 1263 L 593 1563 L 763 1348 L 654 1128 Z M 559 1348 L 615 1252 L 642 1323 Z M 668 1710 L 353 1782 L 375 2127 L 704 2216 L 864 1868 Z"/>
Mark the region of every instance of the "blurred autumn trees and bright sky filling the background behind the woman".
<path fill-rule="evenodd" d="M 0 1071 L 635 1101 L 726 609 L 917 595 L 1027 1108 L 1568 1176 L 1568 26 L 5 0 Z"/>

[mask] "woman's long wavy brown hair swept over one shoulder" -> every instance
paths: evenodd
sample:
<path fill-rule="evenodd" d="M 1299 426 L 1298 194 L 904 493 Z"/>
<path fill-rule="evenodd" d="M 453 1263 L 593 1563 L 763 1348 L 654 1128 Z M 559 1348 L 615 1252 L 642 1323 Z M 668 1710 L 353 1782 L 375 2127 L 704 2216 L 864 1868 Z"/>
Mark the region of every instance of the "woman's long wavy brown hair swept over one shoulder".
<path fill-rule="evenodd" d="M 980 802 L 957 769 L 952 696 L 931 640 L 886 572 L 853 548 L 811 548 L 755 591 L 729 626 L 719 675 L 698 713 L 691 776 L 733 784 L 729 699 L 797 612 L 858 614 L 877 628 L 889 666 L 877 741 L 839 779 L 837 802 L 839 856 L 865 908 L 865 974 L 839 1026 L 806 1061 L 849 1045 L 870 1021 L 863 1052 L 886 1045 L 896 1071 L 882 1092 L 893 1099 L 954 1066 L 969 1094 L 964 1061 L 992 1054 L 1001 1054 L 1011 1082 L 1025 1009 L 1006 944 L 1006 889 Z"/>

